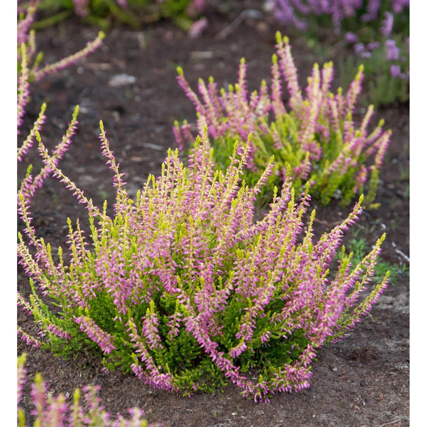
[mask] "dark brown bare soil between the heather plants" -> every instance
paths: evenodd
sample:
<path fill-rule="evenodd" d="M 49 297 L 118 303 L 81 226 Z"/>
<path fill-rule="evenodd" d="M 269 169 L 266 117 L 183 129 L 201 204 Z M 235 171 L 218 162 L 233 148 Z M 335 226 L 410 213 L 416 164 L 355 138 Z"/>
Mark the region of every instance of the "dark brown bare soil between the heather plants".
<path fill-rule="evenodd" d="M 224 28 L 243 8 L 254 2 L 231 2 L 227 14 L 209 15 L 209 27 L 202 37 L 188 38 L 172 24 L 161 22 L 133 32 L 117 27 L 94 54 L 67 70 L 33 84 L 32 102 L 27 109 L 26 126 L 47 102 L 47 122 L 42 131 L 45 145 L 60 140 L 72 110 L 80 105 L 79 130 L 73 137 L 60 168 L 88 197 L 102 205 L 112 201 L 111 171 L 99 148 L 99 120 L 102 119 L 122 172 L 126 173 L 128 192 L 135 194 L 150 173 L 158 174 L 168 147 L 174 147 L 173 120 L 195 119 L 193 105 L 179 88 L 176 66 L 183 67 L 193 88 L 197 79 L 214 76 L 219 85 L 237 80 L 242 56 L 248 64 L 249 88 L 255 89 L 270 76 L 275 31 L 287 31 L 265 16 L 262 21 L 246 20 L 225 38 Z M 258 2 L 259 3 L 259 2 Z M 240 6 L 236 6 L 240 4 Z M 97 29 L 67 21 L 37 33 L 38 48 L 44 61 L 51 63 L 76 52 L 97 35 Z M 310 74 L 316 56 L 302 40 L 292 38 L 292 54 L 300 71 L 301 85 Z M 337 61 L 339 52 L 325 59 Z M 112 87 L 116 74 L 135 76 L 132 84 Z M 392 105 L 381 109 L 393 131 L 386 162 L 380 175 L 377 202 L 379 209 L 364 213 L 353 231 L 369 244 L 386 231 L 382 259 L 391 264 L 407 263 L 409 256 L 409 106 Z M 33 148 L 18 166 L 19 176 L 28 164 L 40 167 Z M 313 203 L 313 206 L 315 203 Z M 332 204 L 317 210 L 315 230 L 320 235 L 345 218 L 348 209 Z M 32 203 L 38 235 L 52 246 L 64 245 L 66 219 L 86 217 L 73 196 L 56 179 L 47 179 Z M 19 223 L 18 228 L 22 225 Z M 401 252 L 398 252 L 401 251 Z M 18 289 L 28 295 L 28 281 L 18 269 Z M 18 324 L 31 331 L 31 319 L 18 311 Z M 79 356 L 61 360 L 46 351 L 18 341 L 18 354 L 27 353 L 29 381 L 41 372 L 50 390 L 73 393 L 87 384 L 101 386 L 100 397 L 111 413 L 126 414 L 129 407 L 140 407 L 150 422 L 164 426 L 409 426 L 409 278 L 395 276 L 371 313 L 345 339 L 322 348 L 313 363 L 311 387 L 304 392 L 274 395 L 269 404 L 244 399 L 234 385 L 223 393 L 196 393 L 190 398 L 152 389 L 135 376 L 120 372 L 104 373 L 97 360 Z M 32 409 L 27 386 L 23 407 Z"/>

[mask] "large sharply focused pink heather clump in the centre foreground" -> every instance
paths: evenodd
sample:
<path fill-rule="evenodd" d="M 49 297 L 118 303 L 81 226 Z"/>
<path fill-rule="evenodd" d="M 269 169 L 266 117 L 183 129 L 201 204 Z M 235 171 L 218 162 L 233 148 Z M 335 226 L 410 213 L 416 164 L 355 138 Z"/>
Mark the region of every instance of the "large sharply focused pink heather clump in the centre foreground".
<path fill-rule="evenodd" d="M 37 237 L 33 193 L 26 190 L 40 178 L 27 174 L 18 195 L 26 234 L 19 234 L 18 256 L 32 295 L 18 293 L 18 305 L 39 332 L 18 327 L 18 334 L 63 357 L 91 353 L 106 369 L 133 371 L 153 387 L 184 395 L 228 381 L 255 401 L 307 388 L 316 351 L 342 338 L 387 285 L 388 275 L 371 286 L 384 236 L 357 265 L 344 250 L 333 261 L 362 198 L 315 241 L 315 212 L 305 216 L 308 186 L 297 196 L 288 173 L 281 195 L 275 190 L 269 212 L 255 222 L 255 198 L 272 162 L 250 188 L 241 181 L 250 140 L 234 145 L 223 173 L 204 132 L 188 168 L 169 149 L 161 175 L 150 176 L 132 200 L 100 127 L 116 187 L 113 216 L 106 202 L 95 206 L 58 169 L 36 134 L 45 166 L 88 209 L 90 231 L 68 220 L 69 246 L 53 253 Z"/>

